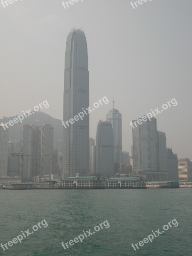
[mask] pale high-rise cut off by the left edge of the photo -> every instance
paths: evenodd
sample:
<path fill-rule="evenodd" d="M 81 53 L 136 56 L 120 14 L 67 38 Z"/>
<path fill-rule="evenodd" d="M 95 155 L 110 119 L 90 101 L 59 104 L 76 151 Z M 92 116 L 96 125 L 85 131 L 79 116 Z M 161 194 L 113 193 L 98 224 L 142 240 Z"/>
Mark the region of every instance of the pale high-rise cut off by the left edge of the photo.
<path fill-rule="evenodd" d="M 0 176 L 7 176 L 9 131 L 0 124 Z"/>

